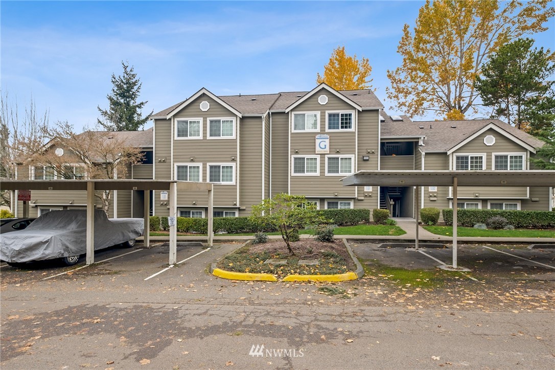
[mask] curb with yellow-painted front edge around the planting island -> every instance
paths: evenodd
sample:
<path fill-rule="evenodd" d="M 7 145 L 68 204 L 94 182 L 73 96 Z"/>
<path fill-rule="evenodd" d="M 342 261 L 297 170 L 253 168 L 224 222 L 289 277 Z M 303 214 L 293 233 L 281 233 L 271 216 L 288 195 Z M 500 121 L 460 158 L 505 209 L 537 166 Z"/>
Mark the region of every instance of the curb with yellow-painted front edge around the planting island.
<path fill-rule="evenodd" d="M 343 244 L 347 248 L 353 262 L 355 262 L 356 270 L 354 272 L 336 273 L 334 275 L 287 275 L 281 281 L 317 281 L 317 282 L 340 282 L 356 280 L 364 276 L 364 268 L 360 261 L 356 258 L 349 243 L 346 239 L 342 239 Z M 245 280 L 245 281 L 280 281 L 270 273 L 251 273 L 251 272 L 232 272 L 222 270 L 216 267 L 216 263 L 210 265 L 210 273 L 214 276 L 228 280 Z"/>

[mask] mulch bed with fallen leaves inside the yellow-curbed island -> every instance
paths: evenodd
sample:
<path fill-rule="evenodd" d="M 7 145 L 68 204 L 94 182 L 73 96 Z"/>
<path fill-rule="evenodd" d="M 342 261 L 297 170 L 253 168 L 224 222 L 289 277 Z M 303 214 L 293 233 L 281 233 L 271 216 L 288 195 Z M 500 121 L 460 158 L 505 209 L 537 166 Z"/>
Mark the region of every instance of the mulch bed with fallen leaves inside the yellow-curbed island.
<path fill-rule="evenodd" d="M 282 240 L 273 240 L 264 244 L 248 245 L 224 257 L 217 265 L 219 268 L 235 272 L 271 273 L 277 276 L 330 275 L 355 271 L 352 261 L 342 241 L 331 243 L 304 239 L 291 243 L 295 255 L 290 255 Z M 286 259 L 286 265 L 265 263 L 268 259 Z M 319 260 L 319 265 L 299 265 L 299 260 Z"/>

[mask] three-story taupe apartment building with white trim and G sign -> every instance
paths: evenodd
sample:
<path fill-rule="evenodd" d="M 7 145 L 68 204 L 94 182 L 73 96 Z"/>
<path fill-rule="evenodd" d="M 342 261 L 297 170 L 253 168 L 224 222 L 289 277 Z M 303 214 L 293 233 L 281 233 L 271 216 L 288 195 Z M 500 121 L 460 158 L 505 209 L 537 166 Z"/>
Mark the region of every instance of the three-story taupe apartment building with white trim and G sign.
<path fill-rule="evenodd" d="M 526 171 L 543 144 L 499 120 L 389 116 L 371 90 L 326 84 L 310 92 L 233 96 L 203 88 L 153 120 L 153 130 L 120 133 L 131 141 L 136 135 L 135 145 L 148 153 L 148 162 L 128 177 L 214 183 L 216 217 L 248 216 L 253 205 L 280 192 L 305 195 L 319 209 L 381 207 L 412 217 L 413 187 L 344 187 L 340 179 L 359 170 Z M 23 168 L 22 176 L 32 178 L 29 171 Z M 452 207 L 450 187 L 427 186 L 420 194 L 421 207 Z M 71 207 L 64 195 L 33 197 L 37 209 Z M 72 197 L 73 204 L 83 202 Z M 114 198 L 114 216 L 142 216 L 142 194 Z M 169 214 L 163 192 L 153 192 L 151 205 L 153 214 Z M 208 199 L 205 192 L 183 192 L 177 205 L 179 216 L 206 217 Z M 461 187 L 457 206 L 552 210 L 553 187 Z"/>

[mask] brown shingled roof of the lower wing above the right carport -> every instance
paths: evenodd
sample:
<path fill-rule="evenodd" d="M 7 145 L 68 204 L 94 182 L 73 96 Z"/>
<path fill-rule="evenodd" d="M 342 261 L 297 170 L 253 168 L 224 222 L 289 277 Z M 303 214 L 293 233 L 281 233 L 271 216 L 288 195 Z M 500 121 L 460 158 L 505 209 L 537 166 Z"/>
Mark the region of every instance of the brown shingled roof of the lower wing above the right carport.
<path fill-rule="evenodd" d="M 534 148 L 543 145 L 543 141 L 498 119 L 415 122 L 404 119 L 402 122 L 386 120 L 381 124 L 381 136 L 426 136 L 424 146 L 419 147 L 421 151 L 451 153 L 490 128 L 534 153 Z"/>

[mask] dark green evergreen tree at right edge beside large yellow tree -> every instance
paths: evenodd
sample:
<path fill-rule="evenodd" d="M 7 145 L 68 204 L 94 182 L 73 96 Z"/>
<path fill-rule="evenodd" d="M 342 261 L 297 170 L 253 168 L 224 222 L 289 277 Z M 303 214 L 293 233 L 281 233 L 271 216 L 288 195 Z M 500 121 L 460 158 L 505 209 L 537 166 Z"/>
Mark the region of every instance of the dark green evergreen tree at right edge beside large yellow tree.
<path fill-rule="evenodd" d="M 509 124 L 539 135 L 553 128 L 555 117 L 555 72 L 549 49 L 534 48 L 534 40 L 517 39 L 503 45 L 483 65 L 476 90 L 483 105 L 492 107 L 493 116 L 502 116 Z"/>

